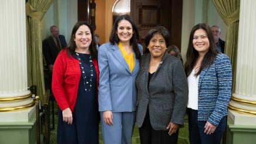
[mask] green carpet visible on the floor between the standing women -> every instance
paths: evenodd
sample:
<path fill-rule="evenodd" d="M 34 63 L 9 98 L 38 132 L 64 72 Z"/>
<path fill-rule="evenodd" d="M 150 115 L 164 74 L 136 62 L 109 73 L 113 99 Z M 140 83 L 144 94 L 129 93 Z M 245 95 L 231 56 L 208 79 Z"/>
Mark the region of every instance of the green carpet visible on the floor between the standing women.
<path fill-rule="evenodd" d="M 51 108 L 50 108 L 51 109 Z M 55 114 L 58 111 L 58 105 L 55 103 Z M 51 114 L 51 112 L 50 112 Z M 50 128 L 52 128 L 52 116 L 50 116 Z M 57 134 L 57 124 L 58 123 L 58 115 L 55 115 L 55 129 L 50 131 L 50 144 L 56 143 L 56 134 Z M 99 125 L 100 129 L 100 125 Z M 103 144 L 102 139 L 102 132 L 99 130 L 99 143 Z M 139 144 L 140 143 L 140 135 L 139 135 L 139 129 L 135 126 L 133 131 L 133 137 L 132 137 L 132 144 Z M 178 144 L 188 144 L 188 122 L 187 122 L 187 116 L 185 116 L 184 121 L 184 127 L 180 128 L 180 131 L 178 131 Z"/>

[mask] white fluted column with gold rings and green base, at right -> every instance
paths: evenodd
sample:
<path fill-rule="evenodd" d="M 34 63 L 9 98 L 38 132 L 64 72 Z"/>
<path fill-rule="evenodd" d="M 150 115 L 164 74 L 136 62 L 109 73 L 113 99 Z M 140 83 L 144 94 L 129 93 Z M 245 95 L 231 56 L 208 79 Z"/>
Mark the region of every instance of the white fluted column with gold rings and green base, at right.
<path fill-rule="evenodd" d="M 255 0 L 240 0 L 236 85 L 228 105 L 226 143 L 256 142 L 255 8 Z"/>

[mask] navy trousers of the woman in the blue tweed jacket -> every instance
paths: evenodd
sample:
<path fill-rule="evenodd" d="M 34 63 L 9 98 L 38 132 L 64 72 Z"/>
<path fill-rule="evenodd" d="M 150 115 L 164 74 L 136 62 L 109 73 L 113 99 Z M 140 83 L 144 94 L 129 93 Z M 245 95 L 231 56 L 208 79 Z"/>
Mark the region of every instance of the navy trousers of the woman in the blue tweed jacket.
<path fill-rule="evenodd" d="M 218 124 L 214 133 L 204 133 L 204 126 L 207 121 L 197 120 L 197 110 L 188 108 L 188 131 L 190 144 L 218 144 L 226 128 L 227 116 L 224 116 Z"/>

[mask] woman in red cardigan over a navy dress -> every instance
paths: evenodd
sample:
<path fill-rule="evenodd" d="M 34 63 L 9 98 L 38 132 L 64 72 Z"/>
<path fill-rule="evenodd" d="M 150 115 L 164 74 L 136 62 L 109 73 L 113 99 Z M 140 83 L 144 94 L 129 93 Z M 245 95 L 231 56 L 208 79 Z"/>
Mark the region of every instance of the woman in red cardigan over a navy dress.
<path fill-rule="evenodd" d="M 96 58 L 92 27 L 76 23 L 69 46 L 53 65 L 52 91 L 60 108 L 57 143 L 99 142 Z"/>

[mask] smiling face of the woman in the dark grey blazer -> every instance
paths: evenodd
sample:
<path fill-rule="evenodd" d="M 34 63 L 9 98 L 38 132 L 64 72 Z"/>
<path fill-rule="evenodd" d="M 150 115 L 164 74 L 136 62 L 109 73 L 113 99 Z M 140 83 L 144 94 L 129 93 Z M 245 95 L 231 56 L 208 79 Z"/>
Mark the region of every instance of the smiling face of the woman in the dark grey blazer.
<path fill-rule="evenodd" d="M 166 41 L 160 33 L 155 33 L 153 37 L 151 37 L 148 47 L 151 57 L 161 58 L 164 52 L 166 52 Z"/>

